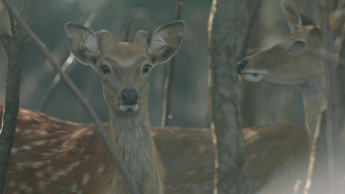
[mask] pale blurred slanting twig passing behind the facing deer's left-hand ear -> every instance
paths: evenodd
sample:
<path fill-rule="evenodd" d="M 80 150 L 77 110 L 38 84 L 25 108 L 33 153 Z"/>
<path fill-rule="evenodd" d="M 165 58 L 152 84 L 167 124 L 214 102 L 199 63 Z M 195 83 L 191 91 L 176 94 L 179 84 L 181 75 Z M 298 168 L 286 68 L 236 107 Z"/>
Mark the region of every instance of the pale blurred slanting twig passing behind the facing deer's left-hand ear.
<path fill-rule="evenodd" d="M 86 19 L 84 26 L 89 27 L 91 25 L 91 23 L 94 21 L 96 15 L 97 15 L 99 9 L 100 9 L 100 7 L 98 7 L 98 9 L 95 9 L 91 12 L 91 14 Z M 70 53 L 70 55 L 68 56 L 68 58 L 65 60 L 64 64 L 62 65 L 61 70 L 63 72 L 66 72 L 66 71 L 71 72 L 73 70 L 73 67 L 74 67 L 72 64 L 75 60 L 76 59 L 74 58 L 73 54 Z M 45 108 L 48 105 L 49 100 L 51 100 L 52 96 L 55 94 L 56 88 L 59 85 L 60 81 L 61 81 L 60 75 L 56 74 L 53 81 L 50 83 L 50 85 L 46 89 L 45 93 L 43 94 L 42 100 L 40 101 L 40 104 L 38 105 L 37 111 L 42 112 L 45 110 Z"/>

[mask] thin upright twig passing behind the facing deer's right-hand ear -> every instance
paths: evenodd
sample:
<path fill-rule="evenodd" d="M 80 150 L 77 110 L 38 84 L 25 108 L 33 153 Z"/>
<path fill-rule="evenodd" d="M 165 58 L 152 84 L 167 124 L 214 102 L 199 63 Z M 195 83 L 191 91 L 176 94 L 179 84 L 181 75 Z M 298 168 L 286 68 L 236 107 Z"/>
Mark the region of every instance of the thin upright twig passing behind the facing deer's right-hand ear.
<path fill-rule="evenodd" d="M 182 15 L 183 0 L 178 0 L 176 7 L 176 20 L 181 20 Z M 175 56 L 170 59 L 170 64 L 166 73 L 165 82 L 164 82 L 164 94 L 163 94 L 163 110 L 162 110 L 162 120 L 160 125 L 169 126 L 169 120 L 172 118 L 170 113 L 171 107 L 171 83 L 174 76 L 175 69 Z"/>

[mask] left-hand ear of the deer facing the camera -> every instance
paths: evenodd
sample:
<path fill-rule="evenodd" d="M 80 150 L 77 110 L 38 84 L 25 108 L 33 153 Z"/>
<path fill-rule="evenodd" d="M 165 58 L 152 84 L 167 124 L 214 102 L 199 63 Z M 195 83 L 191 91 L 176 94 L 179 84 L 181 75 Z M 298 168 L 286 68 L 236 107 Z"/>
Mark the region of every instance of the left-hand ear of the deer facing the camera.
<path fill-rule="evenodd" d="M 68 45 L 76 59 L 83 64 L 95 66 L 101 53 L 97 34 L 75 23 L 67 23 L 65 31 Z"/>

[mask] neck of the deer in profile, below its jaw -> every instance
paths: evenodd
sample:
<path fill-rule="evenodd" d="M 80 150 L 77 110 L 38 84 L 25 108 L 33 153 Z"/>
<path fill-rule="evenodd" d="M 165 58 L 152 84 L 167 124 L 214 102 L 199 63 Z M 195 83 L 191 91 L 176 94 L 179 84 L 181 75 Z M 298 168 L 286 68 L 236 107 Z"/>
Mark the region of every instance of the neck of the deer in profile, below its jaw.
<path fill-rule="evenodd" d="M 315 82 L 313 85 L 307 86 L 303 89 L 305 120 L 310 140 L 314 137 L 317 117 L 321 112 L 321 107 L 326 105 L 326 103 L 326 93 L 323 80 Z"/>

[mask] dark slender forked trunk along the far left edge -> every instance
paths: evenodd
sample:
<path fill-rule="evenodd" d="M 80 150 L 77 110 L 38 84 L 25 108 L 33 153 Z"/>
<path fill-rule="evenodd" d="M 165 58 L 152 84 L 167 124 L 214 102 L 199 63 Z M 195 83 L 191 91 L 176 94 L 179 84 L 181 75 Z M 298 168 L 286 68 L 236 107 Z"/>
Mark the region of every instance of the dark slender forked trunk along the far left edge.
<path fill-rule="evenodd" d="M 25 0 L 24 4 L 28 2 L 30 2 L 30 0 Z M 23 10 L 25 9 L 26 8 L 23 8 Z M 32 11 L 33 9 L 31 9 L 31 12 Z M 9 16 L 11 20 L 12 37 L 5 32 L 5 28 L 1 23 L 1 41 L 6 49 L 8 57 L 8 70 L 6 79 L 5 108 L 3 113 L 3 123 L 0 130 L 0 193 L 3 193 L 4 190 L 7 166 L 16 132 L 23 52 L 28 40 L 23 31 L 21 31 L 20 28 L 17 29 L 14 18 L 11 16 L 10 12 Z M 24 19 L 30 22 L 31 18 Z"/>

